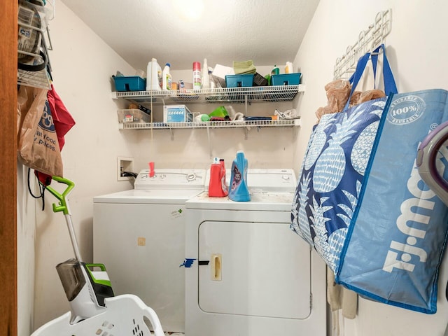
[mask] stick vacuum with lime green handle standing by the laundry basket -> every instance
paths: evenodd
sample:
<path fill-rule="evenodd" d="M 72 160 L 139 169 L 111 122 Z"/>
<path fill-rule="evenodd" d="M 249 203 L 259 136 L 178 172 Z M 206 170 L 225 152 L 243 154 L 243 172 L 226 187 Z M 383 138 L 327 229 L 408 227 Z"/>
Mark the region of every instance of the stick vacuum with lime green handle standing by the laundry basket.
<path fill-rule="evenodd" d="M 75 258 L 61 262 L 56 266 L 66 297 L 70 303 L 70 323 L 73 324 L 102 313 L 106 309 L 104 298 L 112 297 L 113 290 L 106 267 L 103 264 L 86 264 L 80 257 L 67 200 L 69 193 L 75 186 L 74 183 L 58 176 L 52 176 L 52 179 L 67 186 L 62 194 L 57 193 L 50 186 L 47 186 L 46 189 L 59 200 L 59 205 L 52 204 L 53 211 L 62 211 L 64 213 L 75 253 Z"/>

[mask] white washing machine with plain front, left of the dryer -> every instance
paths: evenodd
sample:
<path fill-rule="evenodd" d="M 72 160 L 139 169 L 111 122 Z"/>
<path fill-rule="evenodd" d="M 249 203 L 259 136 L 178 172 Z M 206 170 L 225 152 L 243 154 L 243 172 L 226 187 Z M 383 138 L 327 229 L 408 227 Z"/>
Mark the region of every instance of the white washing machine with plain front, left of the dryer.
<path fill-rule="evenodd" d="M 163 330 L 185 330 L 185 202 L 204 190 L 205 170 L 141 171 L 134 189 L 93 199 L 93 259 L 116 295 L 137 295 Z"/>

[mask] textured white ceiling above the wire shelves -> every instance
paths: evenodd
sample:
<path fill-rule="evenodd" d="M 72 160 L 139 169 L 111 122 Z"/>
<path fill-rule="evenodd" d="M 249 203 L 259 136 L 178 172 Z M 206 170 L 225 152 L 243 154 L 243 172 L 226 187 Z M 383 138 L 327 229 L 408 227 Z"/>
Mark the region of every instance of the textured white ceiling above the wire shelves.
<path fill-rule="evenodd" d="M 62 0 L 135 69 L 293 62 L 318 0 Z M 188 3 L 192 18 L 176 3 Z"/>

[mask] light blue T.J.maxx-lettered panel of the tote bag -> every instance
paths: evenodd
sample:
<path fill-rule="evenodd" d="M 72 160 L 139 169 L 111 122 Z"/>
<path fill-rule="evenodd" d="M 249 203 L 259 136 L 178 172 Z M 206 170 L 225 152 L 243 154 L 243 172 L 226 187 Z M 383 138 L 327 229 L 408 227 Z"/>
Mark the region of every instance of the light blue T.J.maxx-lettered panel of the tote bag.
<path fill-rule="evenodd" d="M 416 167 L 421 141 L 448 120 L 448 92 L 392 94 L 367 165 L 335 280 L 360 295 L 434 314 L 448 211 Z M 447 158 L 436 166 L 444 175 Z"/>

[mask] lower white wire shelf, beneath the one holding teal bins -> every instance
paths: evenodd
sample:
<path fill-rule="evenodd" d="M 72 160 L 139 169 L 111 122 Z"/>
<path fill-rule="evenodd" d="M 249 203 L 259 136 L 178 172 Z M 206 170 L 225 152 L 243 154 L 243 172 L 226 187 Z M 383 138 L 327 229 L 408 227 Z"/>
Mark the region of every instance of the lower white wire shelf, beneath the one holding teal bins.
<path fill-rule="evenodd" d="M 281 120 L 241 120 L 241 121 L 207 121 L 188 123 L 123 123 L 124 130 L 172 130 L 179 128 L 251 128 L 251 127 L 294 127 L 300 126 L 300 119 Z"/>

